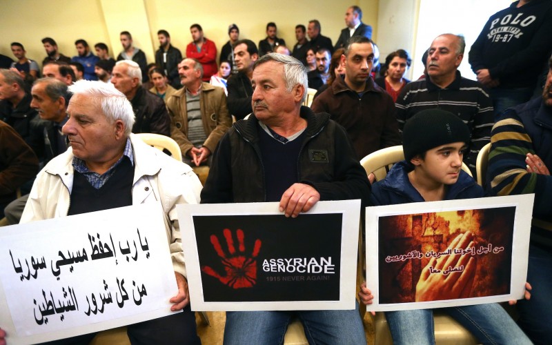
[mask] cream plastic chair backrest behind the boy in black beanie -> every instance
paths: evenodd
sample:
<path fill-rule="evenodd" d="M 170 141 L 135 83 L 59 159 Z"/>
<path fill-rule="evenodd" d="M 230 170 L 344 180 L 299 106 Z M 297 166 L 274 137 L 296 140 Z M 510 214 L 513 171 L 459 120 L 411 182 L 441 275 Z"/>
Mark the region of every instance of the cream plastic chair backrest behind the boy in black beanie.
<path fill-rule="evenodd" d="M 360 164 L 364 170 L 366 170 L 366 175 L 373 173 L 375 175 L 375 181 L 380 181 L 385 178 L 393 164 L 403 159 L 404 152 L 402 151 L 402 145 L 397 145 L 372 152 L 370 155 L 364 157 L 360 161 Z M 472 176 L 468 166 L 463 162 L 462 170 Z"/>

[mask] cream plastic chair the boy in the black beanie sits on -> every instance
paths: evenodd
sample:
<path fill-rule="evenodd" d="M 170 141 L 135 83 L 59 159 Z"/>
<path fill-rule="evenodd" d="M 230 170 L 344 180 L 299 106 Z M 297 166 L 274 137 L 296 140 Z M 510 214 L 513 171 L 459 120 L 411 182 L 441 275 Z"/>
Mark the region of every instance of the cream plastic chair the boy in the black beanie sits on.
<path fill-rule="evenodd" d="M 399 145 L 377 150 L 376 152 L 364 157 L 360 161 L 360 164 L 364 170 L 366 170 L 367 175 L 373 173 L 375 175 L 375 180 L 380 181 L 385 178 L 389 170 L 391 170 L 391 166 L 393 166 L 393 164 L 398 161 L 402 161 L 403 159 L 404 153 L 402 151 L 402 146 Z M 469 168 L 464 163 L 462 163 L 462 170 L 472 176 Z M 364 248 L 364 244 L 361 242 L 362 236 L 359 240 L 359 246 L 361 246 L 359 248 L 359 267 L 365 268 L 366 262 L 364 262 L 364 253 L 366 253 L 366 248 Z M 363 270 L 362 274 L 365 274 L 365 270 Z M 361 304 L 360 317 L 364 318 L 365 313 L 366 306 Z M 435 323 L 435 342 L 437 344 L 477 344 L 477 339 L 475 339 L 475 337 L 473 337 L 473 335 L 469 333 L 466 328 L 464 328 L 449 315 L 435 311 L 435 313 L 433 313 L 433 319 Z M 385 314 L 376 313 L 376 315 L 372 317 L 372 324 L 375 331 L 374 344 L 393 345 L 391 331 L 389 331 Z"/>

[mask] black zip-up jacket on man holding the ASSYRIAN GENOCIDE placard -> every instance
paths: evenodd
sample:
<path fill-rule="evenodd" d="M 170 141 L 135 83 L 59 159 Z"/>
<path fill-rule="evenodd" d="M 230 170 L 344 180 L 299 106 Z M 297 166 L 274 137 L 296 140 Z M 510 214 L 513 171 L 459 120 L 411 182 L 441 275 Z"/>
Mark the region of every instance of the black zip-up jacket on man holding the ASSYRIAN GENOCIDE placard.
<path fill-rule="evenodd" d="M 313 186 L 320 200 L 362 199 L 367 206 L 370 182 L 344 128 L 329 114 L 305 106 L 301 117 L 307 127 L 297 157 L 297 182 Z M 237 121 L 221 139 L 201 191 L 202 204 L 267 201 L 258 122 L 255 116 Z"/>

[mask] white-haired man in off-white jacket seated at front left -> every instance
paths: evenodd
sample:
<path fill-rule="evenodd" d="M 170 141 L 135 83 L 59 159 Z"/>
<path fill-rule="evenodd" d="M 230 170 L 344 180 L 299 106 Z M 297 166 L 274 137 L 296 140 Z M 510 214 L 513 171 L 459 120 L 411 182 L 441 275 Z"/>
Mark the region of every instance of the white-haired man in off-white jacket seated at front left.
<path fill-rule="evenodd" d="M 178 286 L 177 295 L 169 299 L 170 310 L 184 312 L 129 325 L 128 337 L 131 344 L 200 344 L 188 303 L 176 212 L 177 204 L 197 204 L 199 179 L 186 164 L 130 134 L 135 120 L 132 106 L 111 84 L 81 80 L 69 91 L 70 117 L 63 133 L 71 148 L 39 172 L 21 223 L 132 204 L 159 204 Z M 94 336 L 81 335 L 71 342 L 88 344 Z"/>

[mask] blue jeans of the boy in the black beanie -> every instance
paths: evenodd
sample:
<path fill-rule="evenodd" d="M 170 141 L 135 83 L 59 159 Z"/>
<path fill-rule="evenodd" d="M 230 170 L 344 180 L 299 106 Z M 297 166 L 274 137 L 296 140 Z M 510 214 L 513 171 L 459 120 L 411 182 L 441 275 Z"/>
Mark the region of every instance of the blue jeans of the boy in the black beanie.
<path fill-rule="evenodd" d="M 442 308 L 482 344 L 531 344 L 500 304 Z M 388 311 L 393 344 L 435 344 L 433 310 Z"/>

